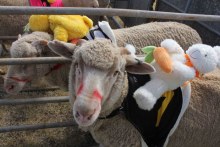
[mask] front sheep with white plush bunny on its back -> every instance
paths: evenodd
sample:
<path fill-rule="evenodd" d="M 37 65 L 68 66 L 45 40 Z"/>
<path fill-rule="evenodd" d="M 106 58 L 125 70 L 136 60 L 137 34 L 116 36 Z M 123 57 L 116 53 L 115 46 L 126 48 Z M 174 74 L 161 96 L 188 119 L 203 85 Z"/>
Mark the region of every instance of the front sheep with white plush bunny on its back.
<path fill-rule="evenodd" d="M 129 93 L 130 74 L 126 71 L 150 73 L 152 69 L 131 56 L 125 48 L 119 48 L 106 39 L 84 41 L 80 46 L 50 41 L 48 46 L 72 60 L 70 103 L 79 127 L 91 132 L 96 142 L 105 147 L 144 145 L 135 125 L 128 122 L 123 113 L 111 115 L 121 108 Z M 159 146 L 220 145 L 219 78 L 214 74 L 205 76 L 204 80 L 193 80 L 191 102 L 182 120 L 177 120 L 179 127 L 175 132 L 177 125 L 171 130 L 174 134 L 168 135 L 169 142 L 167 139 Z M 190 85 L 183 88 L 184 99 L 189 98 L 189 92 Z M 138 121 L 144 120 L 139 118 Z"/>

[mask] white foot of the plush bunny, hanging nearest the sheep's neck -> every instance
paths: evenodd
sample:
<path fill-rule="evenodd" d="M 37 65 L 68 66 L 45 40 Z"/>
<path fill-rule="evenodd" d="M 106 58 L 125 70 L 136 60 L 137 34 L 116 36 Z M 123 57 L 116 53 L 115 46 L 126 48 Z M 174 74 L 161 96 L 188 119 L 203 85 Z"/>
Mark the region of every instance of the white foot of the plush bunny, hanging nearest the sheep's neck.
<path fill-rule="evenodd" d="M 151 110 L 157 101 L 157 99 L 144 88 L 139 88 L 134 92 L 134 99 L 139 108 L 143 110 Z"/>

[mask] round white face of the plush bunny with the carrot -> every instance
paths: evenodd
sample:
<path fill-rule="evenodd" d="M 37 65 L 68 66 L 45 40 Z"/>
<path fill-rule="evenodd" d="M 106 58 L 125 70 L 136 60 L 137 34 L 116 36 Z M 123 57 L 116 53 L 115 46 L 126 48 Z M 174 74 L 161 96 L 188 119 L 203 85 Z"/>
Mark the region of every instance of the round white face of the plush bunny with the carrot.
<path fill-rule="evenodd" d="M 216 51 L 209 45 L 195 44 L 186 51 L 194 67 L 202 74 L 215 70 L 218 64 Z"/>

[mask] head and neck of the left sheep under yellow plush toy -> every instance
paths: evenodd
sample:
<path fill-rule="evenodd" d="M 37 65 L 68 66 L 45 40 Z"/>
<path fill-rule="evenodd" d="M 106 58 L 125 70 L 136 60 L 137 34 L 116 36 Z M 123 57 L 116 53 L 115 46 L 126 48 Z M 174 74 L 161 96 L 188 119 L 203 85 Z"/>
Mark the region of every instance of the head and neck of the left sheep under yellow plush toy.
<path fill-rule="evenodd" d="M 47 47 L 47 41 L 52 39 L 53 36 L 45 32 L 20 36 L 12 43 L 10 55 L 12 58 L 57 56 Z M 4 78 L 4 89 L 7 93 L 16 94 L 26 83 L 45 77 L 49 84 L 59 84 L 65 90 L 68 83 L 68 68 L 69 64 L 10 65 Z"/>

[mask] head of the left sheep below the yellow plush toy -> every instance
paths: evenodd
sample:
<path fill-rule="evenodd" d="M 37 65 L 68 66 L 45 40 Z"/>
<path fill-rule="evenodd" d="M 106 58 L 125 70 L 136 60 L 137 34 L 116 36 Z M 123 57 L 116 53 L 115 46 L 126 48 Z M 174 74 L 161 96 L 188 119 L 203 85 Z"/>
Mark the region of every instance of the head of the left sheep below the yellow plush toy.
<path fill-rule="evenodd" d="M 32 33 L 31 35 L 25 35 L 24 37 L 19 37 L 18 40 L 12 43 L 10 48 L 10 55 L 12 58 L 27 58 L 27 57 L 37 57 L 45 52 L 45 46 L 47 42 L 44 40 L 39 40 L 38 35 L 45 36 L 44 39 L 50 38 L 47 33 Z M 47 47 L 49 50 L 49 48 Z M 37 68 L 42 69 L 43 65 L 29 64 L 29 65 L 10 65 L 8 66 L 7 74 L 4 80 L 4 89 L 7 93 L 16 94 L 23 89 L 27 82 L 36 79 Z M 43 70 L 42 70 L 43 71 Z"/>

